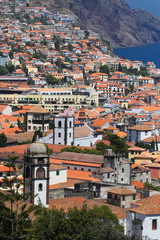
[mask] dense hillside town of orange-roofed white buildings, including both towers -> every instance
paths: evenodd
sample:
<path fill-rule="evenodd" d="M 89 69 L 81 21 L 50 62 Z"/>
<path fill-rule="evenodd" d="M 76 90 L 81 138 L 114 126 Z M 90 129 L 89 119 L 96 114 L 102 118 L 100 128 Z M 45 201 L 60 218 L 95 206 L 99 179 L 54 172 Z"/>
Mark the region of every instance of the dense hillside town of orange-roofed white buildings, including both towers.
<path fill-rule="evenodd" d="M 0 13 L 0 190 L 13 154 L 31 203 L 107 205 L 129 237 L 160 239 L 160 69 L 70 14 L 7 0 Z"/>

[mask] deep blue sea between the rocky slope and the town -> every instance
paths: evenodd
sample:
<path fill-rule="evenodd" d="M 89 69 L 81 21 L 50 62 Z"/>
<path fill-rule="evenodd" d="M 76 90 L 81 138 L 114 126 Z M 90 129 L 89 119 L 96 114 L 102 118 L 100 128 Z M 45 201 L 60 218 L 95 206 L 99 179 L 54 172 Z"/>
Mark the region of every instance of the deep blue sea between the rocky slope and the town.
<path fill-rule="evenodd" d="M 160 68 L 160 43 L 141 47 L 117 48 L 114 49 L 114 53 L 118 57 L 125 57 L 131 61 L 154 62 L 157 68 Z"/>

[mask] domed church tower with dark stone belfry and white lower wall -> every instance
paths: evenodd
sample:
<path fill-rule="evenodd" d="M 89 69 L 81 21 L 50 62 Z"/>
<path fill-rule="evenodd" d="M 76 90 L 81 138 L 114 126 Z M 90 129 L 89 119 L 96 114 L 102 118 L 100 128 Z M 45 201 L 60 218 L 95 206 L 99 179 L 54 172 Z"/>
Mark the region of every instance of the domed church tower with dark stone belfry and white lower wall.
<path fill-rule="evenodd" d="M 32 143 L 24 154 L 24 193 L 29 202 L 49 207 L 49 155 L 46 146 Z"/>

